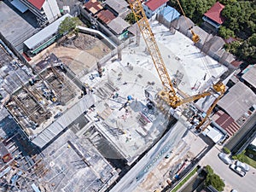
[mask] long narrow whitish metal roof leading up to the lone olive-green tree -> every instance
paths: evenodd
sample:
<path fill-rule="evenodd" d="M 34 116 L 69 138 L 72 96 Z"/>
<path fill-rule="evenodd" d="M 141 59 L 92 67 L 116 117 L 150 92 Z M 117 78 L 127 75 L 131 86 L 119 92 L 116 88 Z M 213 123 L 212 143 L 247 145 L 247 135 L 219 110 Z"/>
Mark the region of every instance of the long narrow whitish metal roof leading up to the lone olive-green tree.
<path fill-rule="evenodd" d="M 42 43 L 45 39 L 50 38 L 56 32 L 61 24 L 62 20 L 65 20 L 66 17 L 72 17 L 69 14 L 63 15 L 60 19 L 55 20 L 49 26 L 46 26 L 40 32 L 33 35 L 31 38 L 28 38 L 24 44 L 28 49 L 34 49 L 38 44 Z"/>

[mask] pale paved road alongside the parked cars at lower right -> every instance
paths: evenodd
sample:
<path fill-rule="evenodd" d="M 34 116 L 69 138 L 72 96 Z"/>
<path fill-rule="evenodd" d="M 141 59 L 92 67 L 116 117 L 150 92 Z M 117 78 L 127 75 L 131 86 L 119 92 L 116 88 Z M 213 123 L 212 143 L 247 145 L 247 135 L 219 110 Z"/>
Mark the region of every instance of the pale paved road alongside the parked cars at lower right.
<path fill-rule="evenodd" d="M 230 185 L 230 189 L 237 189 L 241 192 L 253 192 L 256 189 L 256 169 L 250 166 L 250 171 L 245 177 L 240 177 L 230 170 L 229 166 L 224 164 L 222 160 L 218 159 L 219 149 L 213 147 L 212 150 L 206 154 L 201 160 L 201 166 L 212 166 L 212 169 L 219 177 L 224 179 L 226 185 Z M 254 174 L 253 174 L 254 172 Z"/>

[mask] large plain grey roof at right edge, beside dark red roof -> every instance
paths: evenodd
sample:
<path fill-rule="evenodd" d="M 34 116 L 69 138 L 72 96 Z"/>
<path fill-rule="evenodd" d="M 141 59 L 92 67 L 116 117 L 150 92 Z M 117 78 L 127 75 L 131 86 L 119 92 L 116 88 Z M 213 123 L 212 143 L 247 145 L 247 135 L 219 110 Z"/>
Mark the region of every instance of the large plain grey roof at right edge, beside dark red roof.
<path fill-rule="evenodd" d="M 218 106 L 223 108 L 237 121 L 248 112 L 249 108 L 256 103 L 255 101 L 256 95 L 253 93 L 253 90 L 239 81 L 219 100 Z"/>

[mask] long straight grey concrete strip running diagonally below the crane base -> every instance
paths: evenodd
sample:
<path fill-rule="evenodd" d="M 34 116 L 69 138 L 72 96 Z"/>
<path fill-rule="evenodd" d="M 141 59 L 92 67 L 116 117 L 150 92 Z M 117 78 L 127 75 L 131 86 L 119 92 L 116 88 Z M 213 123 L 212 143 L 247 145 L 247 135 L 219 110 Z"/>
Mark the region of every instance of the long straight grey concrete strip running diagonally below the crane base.
<path fill-rule="evenodd" d="M 154 166 L 157 166 L 160 160 L 177 145 L 186 130 L 187 129 L 183 127 L 181 123 L 177 122 L 177 124 L 148 151 L 148 154 L 120 179 L 119 183 L 117 183 L 110 192 L 131 192 L 136 189 L 137 185 L 143 182 L 148 172 L 150 172 Z"/>

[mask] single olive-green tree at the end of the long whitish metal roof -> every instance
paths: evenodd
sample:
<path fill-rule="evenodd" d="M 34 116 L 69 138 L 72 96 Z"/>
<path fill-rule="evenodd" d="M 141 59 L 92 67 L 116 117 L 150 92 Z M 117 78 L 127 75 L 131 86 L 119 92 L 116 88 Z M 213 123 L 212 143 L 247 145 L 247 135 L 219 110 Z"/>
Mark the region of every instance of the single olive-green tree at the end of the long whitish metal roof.
<path fill-rule="evenodd" d="M 82 22 L 78 17 L 66 17 L 65 20 L 61 21 L 58 31 L 61 35 L 65 35 L 69 32 L 77 33 L 78 31 L 76 30 L 76 26 L 81 24 Z"/>

